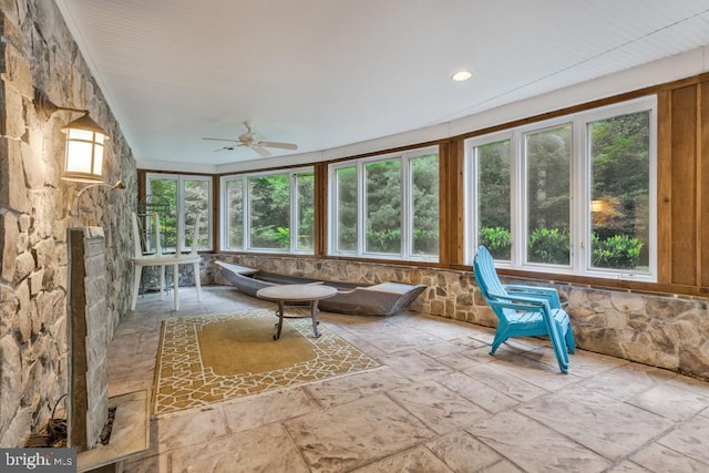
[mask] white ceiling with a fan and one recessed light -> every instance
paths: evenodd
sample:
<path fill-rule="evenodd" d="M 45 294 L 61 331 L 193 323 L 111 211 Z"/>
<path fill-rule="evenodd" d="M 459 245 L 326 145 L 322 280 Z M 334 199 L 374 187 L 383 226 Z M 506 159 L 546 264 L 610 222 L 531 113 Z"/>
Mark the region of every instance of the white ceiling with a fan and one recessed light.
<path fill-rule="evenodd" d="M 709 44 L 709 0 L 56 0 L 138 162 L 251 121 L 301 155 L 449 123 Z M 470 70 L 473 79 L 451 75 Z"/>

